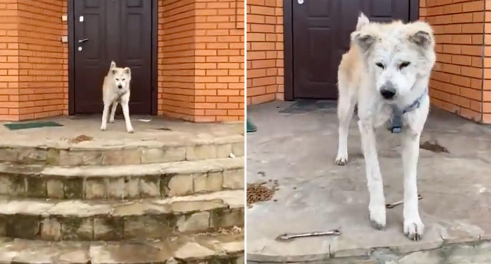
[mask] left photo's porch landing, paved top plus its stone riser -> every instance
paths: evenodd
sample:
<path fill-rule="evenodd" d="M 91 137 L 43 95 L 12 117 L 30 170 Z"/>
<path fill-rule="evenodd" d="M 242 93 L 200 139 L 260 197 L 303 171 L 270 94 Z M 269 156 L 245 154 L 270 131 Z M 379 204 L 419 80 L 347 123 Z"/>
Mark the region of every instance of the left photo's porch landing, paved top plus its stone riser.
<path fill-rule="evenodd" d="M 244 156 L 244 124 L 194 124 L 164 117 L 132 117 L 136 132 L 118 120 L 100 131 L 100 117 L 53 117 L 63 127 L 8 130 L 0 122 L 0 161 L 50 165 L 146 164 Z M 113 127 L 113 128 L 111 128 Z M 138 127 L 138 128 L 137 128 Z M 123 128 L 123 129 L 120 129 Z M 73 142 L 78 136 L 92 140 Z"/>

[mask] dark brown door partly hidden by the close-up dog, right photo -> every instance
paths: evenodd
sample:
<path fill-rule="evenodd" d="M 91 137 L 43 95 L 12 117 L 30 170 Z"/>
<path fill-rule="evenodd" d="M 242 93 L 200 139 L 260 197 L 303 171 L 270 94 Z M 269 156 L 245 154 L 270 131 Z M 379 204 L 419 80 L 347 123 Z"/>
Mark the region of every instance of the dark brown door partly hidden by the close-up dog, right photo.
<path fill-rule="evenodd" d="M 360 11 L 373 21 L 409 20 L 409 0 L 292 1 L 294 98 L 337 99 L 338 65 Z"/>

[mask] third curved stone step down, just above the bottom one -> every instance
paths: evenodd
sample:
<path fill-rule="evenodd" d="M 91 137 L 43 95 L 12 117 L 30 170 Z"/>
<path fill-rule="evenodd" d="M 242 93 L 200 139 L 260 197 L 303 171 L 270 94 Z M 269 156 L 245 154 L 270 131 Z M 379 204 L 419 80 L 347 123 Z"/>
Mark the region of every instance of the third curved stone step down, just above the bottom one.
<path fill-rule="evenodd" d="M 12 238 L 118 241 L 243 225 L 244 190 L 133 201 L 0 197 L 0 236 Z"/>

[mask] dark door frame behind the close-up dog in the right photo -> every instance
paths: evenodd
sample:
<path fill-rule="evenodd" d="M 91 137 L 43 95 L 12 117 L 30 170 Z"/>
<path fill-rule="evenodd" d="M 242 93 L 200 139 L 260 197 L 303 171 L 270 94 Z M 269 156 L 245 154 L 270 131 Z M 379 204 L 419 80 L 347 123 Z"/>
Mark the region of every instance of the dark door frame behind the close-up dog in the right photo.
<path fill-rule="evenodd" d="M 293 95 L 293 1 L 283 1 L 283 41 L 284 41 L 284 100 L 295 100 Z M 419 18 L 419 0 L 409 0 L 409 20 Z"/>

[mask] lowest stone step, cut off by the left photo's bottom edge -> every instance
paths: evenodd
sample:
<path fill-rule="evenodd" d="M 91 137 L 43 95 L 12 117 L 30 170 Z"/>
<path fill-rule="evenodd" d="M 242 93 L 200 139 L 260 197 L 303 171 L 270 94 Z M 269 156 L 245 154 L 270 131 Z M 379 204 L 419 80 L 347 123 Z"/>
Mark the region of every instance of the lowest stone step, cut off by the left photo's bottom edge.
<path fill-rule="evenodd" d="M 47 242 L 0 237 L 0 263 L 244 263 L 244 234 L 199 234 L 159 241 Z"/>

